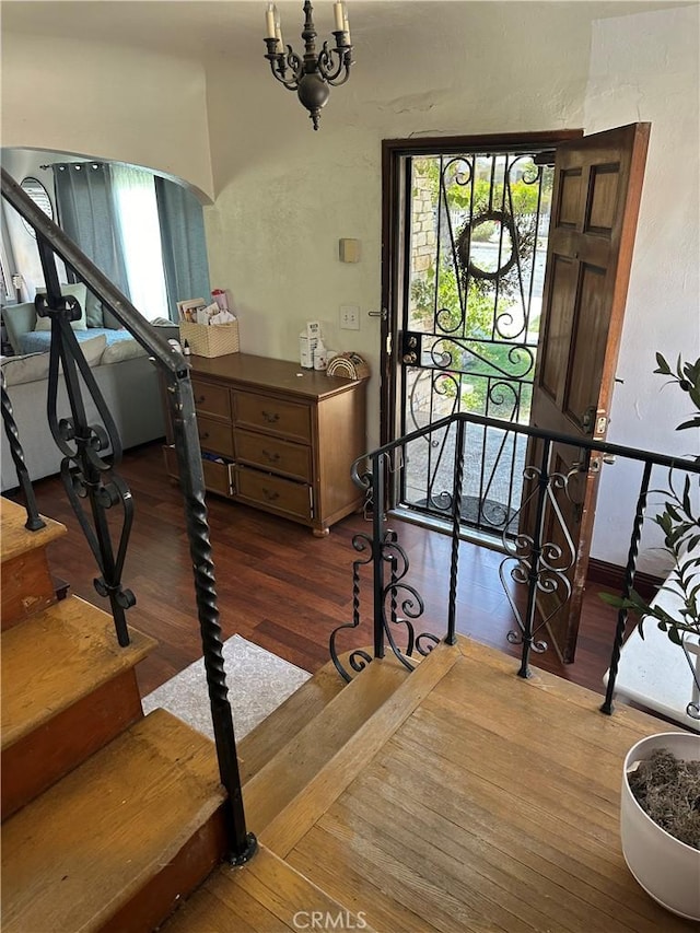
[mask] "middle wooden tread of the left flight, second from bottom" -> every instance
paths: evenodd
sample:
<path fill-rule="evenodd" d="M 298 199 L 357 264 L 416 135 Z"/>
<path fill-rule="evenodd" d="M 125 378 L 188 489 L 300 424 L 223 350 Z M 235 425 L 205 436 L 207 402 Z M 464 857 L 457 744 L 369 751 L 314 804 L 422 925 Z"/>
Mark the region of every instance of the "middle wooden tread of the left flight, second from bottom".
<path fill-rule="evenodd" d="M 120 648 L 102 609 L 69 596 L 2 633 L 2 748 L 133 667 L 156 642 L 129 629 Z"/>

